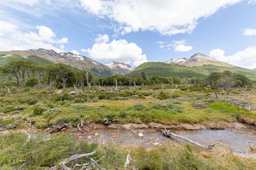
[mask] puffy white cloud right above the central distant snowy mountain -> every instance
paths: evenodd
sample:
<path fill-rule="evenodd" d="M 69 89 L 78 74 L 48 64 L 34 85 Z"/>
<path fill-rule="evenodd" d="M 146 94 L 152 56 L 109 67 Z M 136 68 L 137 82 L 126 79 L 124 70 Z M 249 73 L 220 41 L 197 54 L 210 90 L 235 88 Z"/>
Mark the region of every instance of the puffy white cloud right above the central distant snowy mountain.
<path fill-rule="evenodd" d="M 128 43 L 126 40 L 112 40 L 110 43 L 95 43 L 91 49 L 82 49 L 82 52 L 88 52 L 88 55 L 97 60 L 105 62 L 124 62 L 139 66 L 148 62 L 146 55 L 142 55 L 142 48 L 135 43 Z"/>

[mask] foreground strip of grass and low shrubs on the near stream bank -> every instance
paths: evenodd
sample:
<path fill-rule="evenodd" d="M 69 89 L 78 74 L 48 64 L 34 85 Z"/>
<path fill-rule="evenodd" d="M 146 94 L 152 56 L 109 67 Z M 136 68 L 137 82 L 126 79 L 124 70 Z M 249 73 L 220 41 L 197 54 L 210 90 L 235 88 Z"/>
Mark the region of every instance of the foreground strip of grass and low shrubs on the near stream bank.
<path fill-rule="evenodd" d="M 72 135 L 58 134 L 43 142 L 43 136 L 34 134 L 24 145 L 24 132 L 7 133 L 0 136 L 1 169 L 48 169 L 73 154 L 84 154 L 96 150 L 92 156 L 97 160 L 105 156 L 99 166 L 105 169 L 123 169 L 129 153 L 136 169 L 255 169 L 253 160 L 236 157 L 228 147 L 215 147 L 212 151 L 191 145 L 166 142 L 151 149 L 137 146 L 120 146 L 113 143 L 97 145 L 76 141 Z M 16 140 L 12 140 L 16 138 Z M 88 162 L 80 159 L 76 164 Z M 70 166 L 70 164 L 68 165 Z"/>

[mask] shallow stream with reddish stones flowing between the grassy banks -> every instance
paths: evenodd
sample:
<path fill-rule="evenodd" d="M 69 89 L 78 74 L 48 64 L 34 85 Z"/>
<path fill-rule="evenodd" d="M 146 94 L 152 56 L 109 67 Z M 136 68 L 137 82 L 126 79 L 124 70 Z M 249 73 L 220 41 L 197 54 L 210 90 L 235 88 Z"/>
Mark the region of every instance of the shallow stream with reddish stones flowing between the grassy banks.
<path fill-rule="evenodd" d="M 250 145 L 256 146 L 256 130 L 252 129 L 227 129 L 227 130 L 174 130 L 177 135 L 187 137 L 201 145 L 225 145 L 234 152 L 247 152 Z M 139 137 L 139 133 L 143 137 Z M 155 129 L 117 130 L 108 128 L 95 128 L 89 132 L 75 134 L 79 140 L 105 144 L 115 142 L 120 145 L 142 145 L 144 147 L 156 147 L 165 142 L 181 142 L 176 137 L 164 137 Z"/>

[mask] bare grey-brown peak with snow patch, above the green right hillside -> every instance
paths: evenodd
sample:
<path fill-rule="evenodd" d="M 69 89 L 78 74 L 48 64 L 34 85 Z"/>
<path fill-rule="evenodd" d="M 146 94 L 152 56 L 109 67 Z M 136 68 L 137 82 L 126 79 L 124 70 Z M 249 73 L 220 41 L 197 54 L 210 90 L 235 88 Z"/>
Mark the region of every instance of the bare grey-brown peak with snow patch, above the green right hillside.
<path fill-rule="evenodd" d="M 203 55 L 201 53 L 196 53 L 195 55 L 191 56 L 190 58 L 178 58 L 178 59 L 171 59 L 168 62 L 170 64 L 181 64 L 188 67 L 193 66 L 203 66 L 203 65 L 215 65 L 220 67 L 234 67 L 232 64 L 228 64 L 226 62 L 220 62 L 218 60 L 213 59 L 212 57 L 209 57 L 207 55 Z"/>

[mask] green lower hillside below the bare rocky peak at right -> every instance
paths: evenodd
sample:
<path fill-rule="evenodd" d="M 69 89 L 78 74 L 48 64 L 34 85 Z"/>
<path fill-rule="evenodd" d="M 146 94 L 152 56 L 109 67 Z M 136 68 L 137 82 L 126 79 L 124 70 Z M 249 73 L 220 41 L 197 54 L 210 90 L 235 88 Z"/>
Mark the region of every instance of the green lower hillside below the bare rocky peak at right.
<path fill-rule="evenodd" d="M 215 65 L 203 65 L 201 67 L 186 67 L 178 64 L 166 64 L 164 62 L 145 62 L 137 69 L 127 74 L 127 76 L 141 77 L 141 72 L 145 72 L 147 76 L 163 76 L 163 77 L 206 77 L 210 72 L 223 72 L 229 70 L 230 72 L 245 74 L 247 77 L 256 81 L 256 72 L 251 69 L 244 69 L 241 67 L 219 67 Z"/>

